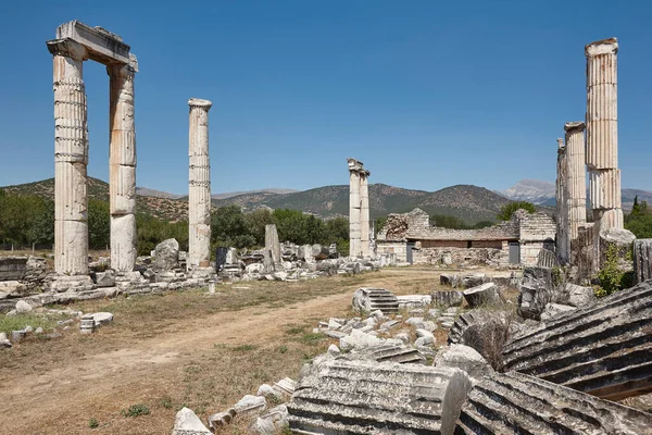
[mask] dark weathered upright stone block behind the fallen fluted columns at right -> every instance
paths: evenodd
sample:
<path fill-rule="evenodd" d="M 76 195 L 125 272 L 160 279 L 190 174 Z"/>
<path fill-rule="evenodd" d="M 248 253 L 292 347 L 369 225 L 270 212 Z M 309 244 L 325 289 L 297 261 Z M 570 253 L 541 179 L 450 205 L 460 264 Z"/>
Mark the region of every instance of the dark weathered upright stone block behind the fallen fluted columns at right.
<path fill-rule="evenodd" d="M 551 270 L 525 268 L 518 289 L 518 314 L 525 319 L 539 320 L 546 306 L 552 302 L 555 296 Z"/>

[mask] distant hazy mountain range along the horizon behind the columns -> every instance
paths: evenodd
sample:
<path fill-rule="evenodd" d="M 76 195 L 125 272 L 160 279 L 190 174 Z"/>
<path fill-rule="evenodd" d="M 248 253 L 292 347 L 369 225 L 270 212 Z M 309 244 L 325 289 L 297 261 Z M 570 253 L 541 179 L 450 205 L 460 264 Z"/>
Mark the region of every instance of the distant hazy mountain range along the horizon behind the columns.
<path fill-rule="evenodd" d="M 9 192 L 34 194 L 54 198 L 54 178 L 15 186 L 2 187 Z M 529 201 L 544 210 L 555 204 L 553 183 L 523 179 L 505 190 L 491 191 L 473 185 L 456 185 L 437 191 L 404 189 L 385 184 L 369 185 L 369 213 L 372 217 L 388 213 L 404 213 L 421 208 L 428 214 L 446 214 L 460 217 L 467 224 L 494 221 L 500 209 L 513 201 Z M 109 200 L 109 185 L 98 178 L 88 178 L 89 198 Z M 631 209 L 634 198 L 652 203 L 652 192 L 639 189 L 623 189 L 623 207 Z M 215 194 L 214 207 L 237 204 L 244 211 L 260 208 L 293 209 L 322 217 L 347 216 L 349 214 L 349 186 L 324 186 L 310 190 L 261 189 Z M 187 219 L 188 196 L 137 188 L 137 209 L 155 217 L 178 221 Z"/>

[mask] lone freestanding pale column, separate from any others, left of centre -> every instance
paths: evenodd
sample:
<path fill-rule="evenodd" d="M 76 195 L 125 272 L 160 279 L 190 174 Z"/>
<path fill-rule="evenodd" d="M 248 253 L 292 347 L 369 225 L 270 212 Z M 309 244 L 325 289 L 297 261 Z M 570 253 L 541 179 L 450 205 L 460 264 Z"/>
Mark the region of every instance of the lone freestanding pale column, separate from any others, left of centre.
<path fill-rule="evenodd" d="M 209 161 L 209 100 L 191 98 L 189 130 L 188 270 L 211 261 L 211 164 Z"/>

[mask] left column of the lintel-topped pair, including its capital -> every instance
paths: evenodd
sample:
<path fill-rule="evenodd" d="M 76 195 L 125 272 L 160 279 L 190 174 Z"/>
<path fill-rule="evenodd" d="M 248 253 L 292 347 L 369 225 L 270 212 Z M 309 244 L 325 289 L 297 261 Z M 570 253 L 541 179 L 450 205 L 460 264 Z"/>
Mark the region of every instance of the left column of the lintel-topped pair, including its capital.
<path fill-rule="evenodd" d="M 54 70 L 54 271 L 88 275 L 88 125 L 83 62 L 72 39 L 47 42 Z"/>

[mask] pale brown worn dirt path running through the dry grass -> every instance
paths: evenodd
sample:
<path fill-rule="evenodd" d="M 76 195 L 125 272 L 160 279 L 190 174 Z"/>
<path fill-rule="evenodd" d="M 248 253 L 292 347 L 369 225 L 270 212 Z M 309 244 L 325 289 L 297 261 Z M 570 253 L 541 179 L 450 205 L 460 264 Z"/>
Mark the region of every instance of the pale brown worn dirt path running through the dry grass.
<path fill-rule="evenodd" d="M 399 283 L 408 277 L 418 282 L 424 274 L 432 278 L 427 271 L 396 271 L 369 275 L 364 285 L 400 287 Z M 317 286 L 318 281 L 315 281 Z M 166 328 L 163 334 L 138 341 L 126 339 L 124 346 L 111 350 L 96 347 L 85 353 L 83 349 L 78 357 L 63 358 L 62 364 L 50 364 L 37 373 L 0 368 L 0 410 L 5 415 L 0 434 L 168 433 L 174 410 L 159 412 L 159 419 L 170 419 L 162 424 L 142 424 L 145 420 L 121 417 L 120 410 L 136 399 L 151 402 L 165 391 L 183 388 L 184 380 L 188 378 L 185 371 L 192 364 L 208 364 L 217 358 L 216 347 L 268 347 L 287 340 L 284 335 L 289 323 L 314 325 L 315 320 L 342 315 L 352 294 L 352 289 L 344 290 L 281 308 L 256 306 L 177 320 L 178 328 Z M 101 334 L 97 334 L 99 339 Z M 33 363 L 38 366 L 39 362 Z M 213 366 L 218 370 L 220 363 Z M 299 369 L 300 364 L 287 368 L 288 375 Z M 241 375 L 237 368 L 230 370 L 229 376 Z M 7 418 L 9 414 L 11 419 Z M 91 430 L 90 417 L 105 424 Z"/>

